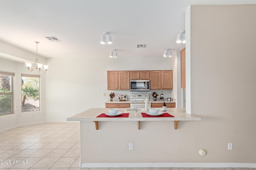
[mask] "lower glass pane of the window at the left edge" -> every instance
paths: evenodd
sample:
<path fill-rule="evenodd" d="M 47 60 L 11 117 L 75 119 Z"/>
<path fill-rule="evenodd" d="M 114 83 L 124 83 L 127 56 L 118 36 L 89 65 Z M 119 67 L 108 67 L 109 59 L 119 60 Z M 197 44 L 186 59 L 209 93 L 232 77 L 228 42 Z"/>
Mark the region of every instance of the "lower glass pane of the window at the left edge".
<path fill-rule="evenodd" d="M 12 113 L 12 94 L 0 94 L 0 115 Z"/>

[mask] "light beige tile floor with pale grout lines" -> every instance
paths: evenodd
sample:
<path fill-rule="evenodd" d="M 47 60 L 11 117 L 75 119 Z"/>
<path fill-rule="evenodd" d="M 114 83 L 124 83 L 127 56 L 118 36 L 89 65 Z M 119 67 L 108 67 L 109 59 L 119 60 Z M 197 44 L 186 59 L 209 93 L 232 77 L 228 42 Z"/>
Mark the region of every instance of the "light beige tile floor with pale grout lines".
<path fill-rule="evenodd" d="M 79 160 L 79 123 L 41 123 L 0 132 L 0 170 L 256 170 L 254 168 L 79 168 Z"/>

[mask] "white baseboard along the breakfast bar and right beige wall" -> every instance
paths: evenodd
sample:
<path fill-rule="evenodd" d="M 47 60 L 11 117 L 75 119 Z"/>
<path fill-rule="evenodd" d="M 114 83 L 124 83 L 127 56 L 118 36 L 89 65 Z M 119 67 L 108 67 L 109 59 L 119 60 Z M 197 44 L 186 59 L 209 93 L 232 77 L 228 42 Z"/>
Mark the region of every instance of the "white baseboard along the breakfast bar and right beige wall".
<path fill-rule="evenodd" d="M 80 168 L 256 168 L 255 163 L 80 163 Z"/>

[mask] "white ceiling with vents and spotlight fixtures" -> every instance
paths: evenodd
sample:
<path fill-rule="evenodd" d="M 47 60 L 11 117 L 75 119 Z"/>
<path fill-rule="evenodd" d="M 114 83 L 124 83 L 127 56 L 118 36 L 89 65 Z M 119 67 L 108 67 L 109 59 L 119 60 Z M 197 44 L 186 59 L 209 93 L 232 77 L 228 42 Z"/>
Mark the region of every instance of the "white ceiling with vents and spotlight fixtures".
<path fill-rule="evenodd" d="M 0 0 L 0 41 L 32 53 L 39 41 L 38 55 L 46 58 L 108 57 L 112 49 L 118 57 L 162 57 L 166 48 L 185 47 L 176 43 L 185 30 L 185 11 L 202 4 L 256 0 Z M 112 44 L 100 44 L 104 31 Z"/>

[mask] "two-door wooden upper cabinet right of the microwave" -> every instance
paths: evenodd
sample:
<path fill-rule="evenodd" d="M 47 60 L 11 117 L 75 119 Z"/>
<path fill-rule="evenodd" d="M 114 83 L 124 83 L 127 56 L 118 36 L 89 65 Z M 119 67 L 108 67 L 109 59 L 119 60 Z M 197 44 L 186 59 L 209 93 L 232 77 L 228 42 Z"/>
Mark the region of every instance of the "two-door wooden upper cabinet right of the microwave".
<path fill-rule="evenodd" d="M 150 89 L 172 89 L 172 70 L 150 71 Z"/>

